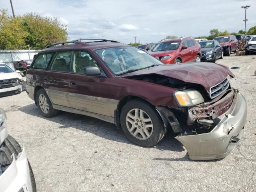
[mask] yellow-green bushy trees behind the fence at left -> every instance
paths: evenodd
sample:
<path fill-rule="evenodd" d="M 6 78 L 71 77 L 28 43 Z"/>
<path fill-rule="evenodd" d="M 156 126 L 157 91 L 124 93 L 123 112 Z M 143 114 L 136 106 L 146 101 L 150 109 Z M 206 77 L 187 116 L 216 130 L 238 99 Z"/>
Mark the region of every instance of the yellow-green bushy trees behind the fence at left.
<path fill-rule="evenodd" d="M 57 18 L 28 13 L 12 18 L 0 10 L 0 49 L 43 49 L 67 40 L 67 27 Z"/>

